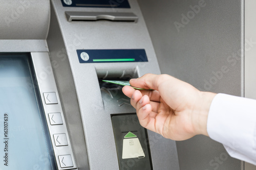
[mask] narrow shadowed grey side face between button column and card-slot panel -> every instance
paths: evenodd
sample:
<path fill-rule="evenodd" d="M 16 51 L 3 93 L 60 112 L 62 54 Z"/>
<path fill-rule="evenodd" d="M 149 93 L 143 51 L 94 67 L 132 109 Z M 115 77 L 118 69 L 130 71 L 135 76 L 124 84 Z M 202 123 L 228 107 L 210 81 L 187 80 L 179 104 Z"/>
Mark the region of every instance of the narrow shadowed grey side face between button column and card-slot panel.
<path fill-rule="evenodd" d="M 51 10 L 51 23 L 47 37 L 51 63 L 67 120 L 70 140 L 78 169 L 89 169 L 86 141 L 84 139 L 81 114 L 67 52 L 59 30 L 54 10 Z"/>

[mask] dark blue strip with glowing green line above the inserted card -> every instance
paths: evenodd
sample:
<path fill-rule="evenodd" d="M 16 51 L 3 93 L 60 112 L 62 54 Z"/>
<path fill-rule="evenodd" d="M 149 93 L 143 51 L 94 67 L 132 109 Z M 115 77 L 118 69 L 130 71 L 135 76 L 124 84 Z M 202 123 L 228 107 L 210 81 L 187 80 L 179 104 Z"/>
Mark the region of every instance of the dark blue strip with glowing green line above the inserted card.
<path fill-rule="evenodd" d="M 80 63 L 147 62 L 144 49 L 77 50 Z"/>

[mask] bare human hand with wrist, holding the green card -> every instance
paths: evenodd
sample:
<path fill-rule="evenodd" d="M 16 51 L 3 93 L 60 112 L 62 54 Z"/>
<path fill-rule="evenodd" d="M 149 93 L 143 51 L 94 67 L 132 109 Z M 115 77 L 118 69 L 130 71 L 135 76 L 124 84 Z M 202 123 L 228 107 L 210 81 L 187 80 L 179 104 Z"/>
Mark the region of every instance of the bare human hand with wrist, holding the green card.
<path fill-rule="evenodd" d="M 215 93 L 202 92 L 169 75 L 146 74 L 131 79 L 134 87 L 122 88 L 131 98 L 140 125 L 165 138 L 185 140 L 197 134 L 208 136 L 207 117 Z"/>

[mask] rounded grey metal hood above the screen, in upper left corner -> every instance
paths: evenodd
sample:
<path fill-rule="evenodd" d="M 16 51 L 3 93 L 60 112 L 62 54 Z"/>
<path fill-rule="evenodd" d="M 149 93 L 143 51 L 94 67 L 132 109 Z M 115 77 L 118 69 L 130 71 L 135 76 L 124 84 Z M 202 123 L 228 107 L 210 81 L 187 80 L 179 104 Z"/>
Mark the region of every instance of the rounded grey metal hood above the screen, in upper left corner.
<path fill-rule="evenodd" d="M 46 39 L 49 0 L 0 1 L 0 39 Z"/>

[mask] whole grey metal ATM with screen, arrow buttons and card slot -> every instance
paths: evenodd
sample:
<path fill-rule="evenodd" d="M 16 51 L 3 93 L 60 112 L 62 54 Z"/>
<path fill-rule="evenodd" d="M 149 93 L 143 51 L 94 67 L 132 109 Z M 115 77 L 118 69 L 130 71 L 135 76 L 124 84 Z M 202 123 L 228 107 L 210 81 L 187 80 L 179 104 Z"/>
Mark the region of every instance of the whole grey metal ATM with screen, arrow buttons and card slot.
<path fill-rule="evenodd" d="M 208 137 L 176 142 L 142 128 L 121 87 L 102 81 L 167 73 L 200 90 L 205 79 L 208 91 L 244 96 L 243 53 L 223 75 L 225 79 L 210 82 L 212 71 L 218 71 L 212 68 L 223 61 L 215 55 L 228 55 L 236 47 L 243 50 L 243 1 L 230 1 L 233 9 L 226 11 L 230 5 L 226 1 L 204 2 L 205 6 L 201 2 L 201 12 L 194 12 L 186 24 L 184 13 L 199 1 L 1 3 L 0 170 L 249 170 L 249 164 L 229 157 L 221 144 Z M 207 26 L 212 20 L 225 23 L 230 18 L 215 20 L 215 14 L 234 15 L 222 27 L 234 26 L 228 31 L 230 39 L 223 41 L 237 41 L 225 49 L 214 36 L 221 37 L 218 27 Z M 202 18 L 207 22 L 200 25 Z M 175 21 L 184 26 L 179 32 Z M 201 26 L 210 32 L 195 31 Z M 195 42 L 196 37 L 202 42 Z M 207 46 L 209 37 L 215 48 Z M 197 56 L 189 58 L 188 50 Z M 226 87 L 234 82 L 235 88 Z"/>

